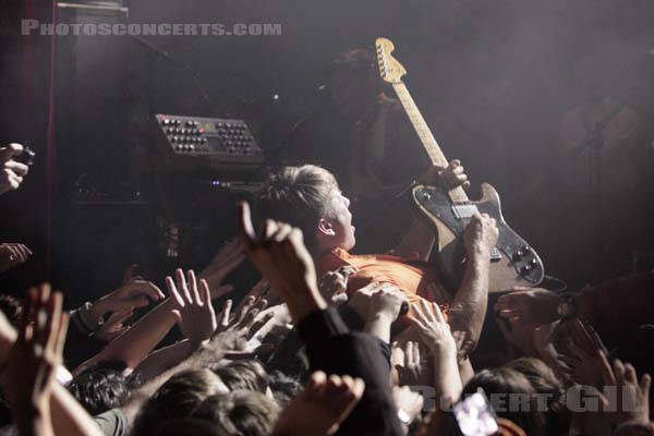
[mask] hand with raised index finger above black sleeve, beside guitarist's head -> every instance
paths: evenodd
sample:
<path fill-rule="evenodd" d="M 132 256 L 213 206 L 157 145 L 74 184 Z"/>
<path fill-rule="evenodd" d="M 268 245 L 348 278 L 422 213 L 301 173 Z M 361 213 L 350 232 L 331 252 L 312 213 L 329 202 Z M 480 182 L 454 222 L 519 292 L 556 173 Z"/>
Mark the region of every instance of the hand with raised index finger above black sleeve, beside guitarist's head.
<path fill-rule="evenodd" d="M 316 270 L 303 242 L 302 231 L 283 222 L 266 220 L 258 237 L 247 203 L 239 204 L 239 230 L 245 252 L 275 291 L 279 292 L 295 322 L 327 303 L 317 289 Z"/>

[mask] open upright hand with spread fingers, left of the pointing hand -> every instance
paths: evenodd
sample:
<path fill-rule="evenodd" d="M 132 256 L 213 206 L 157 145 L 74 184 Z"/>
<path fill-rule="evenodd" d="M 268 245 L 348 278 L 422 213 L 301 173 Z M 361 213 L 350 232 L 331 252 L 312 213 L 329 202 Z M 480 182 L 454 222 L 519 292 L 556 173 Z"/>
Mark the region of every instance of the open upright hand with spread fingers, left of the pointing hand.
<path fill-rule="evenodd" d="M 184 337 L 194 347 L 199 347 L 209 340 L 217 327 L 209 286 L 205 280 L 201 280 L 198 289 L 192 269 L 186 277 L 178 269 L 175 280 L 177 286 L 172 277 L 166 277 L 166 286 L 174 300 L 172 313 Z"/>

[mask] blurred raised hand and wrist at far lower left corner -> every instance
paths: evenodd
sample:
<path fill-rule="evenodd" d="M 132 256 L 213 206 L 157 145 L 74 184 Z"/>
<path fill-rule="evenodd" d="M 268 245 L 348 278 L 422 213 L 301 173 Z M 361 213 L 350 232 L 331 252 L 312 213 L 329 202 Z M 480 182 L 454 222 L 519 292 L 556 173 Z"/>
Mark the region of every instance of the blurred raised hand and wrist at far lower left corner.
<path fill-rule="evenodd" d="M 2 375 L 20 434 L 53 433 L 50 396 L 68 329 L 62 300 L 61 293 L 51 292 L 49 284 L 32 288 L 27 293 L 19 337 Z"/>

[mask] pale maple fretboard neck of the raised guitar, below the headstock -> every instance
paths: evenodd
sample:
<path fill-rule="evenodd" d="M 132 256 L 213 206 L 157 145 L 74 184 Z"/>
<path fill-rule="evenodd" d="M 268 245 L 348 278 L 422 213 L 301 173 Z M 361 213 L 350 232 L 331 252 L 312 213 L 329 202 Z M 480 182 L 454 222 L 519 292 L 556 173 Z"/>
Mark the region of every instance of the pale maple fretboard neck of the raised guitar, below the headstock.
<path fill-rule="evenodd" d="M 446 168 L 449 165 L 449 162 L 443 154 L 443 150 L 436 142 L 436 138 L 432 134 L 432 131 L 425 122 L 425 119 L 417 109 L 415 101 L 413 101 L 413 97 L 411 97 L 411 94 L 409 94 L 409 89 L 407 89 L 407 86 L 403 82 L 396 82 L 392 84 L 392 87 L 396 94 L 398 95 L 398 99 L 402 104 L 402 107 L 404 108 L 404 111 L 407 112 L 407 116 L 409 117 L 413 129 L 415 129 L 415 133 L 417 134 L 417 137 L 420 138 L 423 147 L 425 148 L 425 152 L 429 156 L 432 164 L 438 167 Z M 453 203 L 464 203 L 469 201 L 465 191 L 463 191 L 461 186 L 450 190 L 449 196 Z"/>

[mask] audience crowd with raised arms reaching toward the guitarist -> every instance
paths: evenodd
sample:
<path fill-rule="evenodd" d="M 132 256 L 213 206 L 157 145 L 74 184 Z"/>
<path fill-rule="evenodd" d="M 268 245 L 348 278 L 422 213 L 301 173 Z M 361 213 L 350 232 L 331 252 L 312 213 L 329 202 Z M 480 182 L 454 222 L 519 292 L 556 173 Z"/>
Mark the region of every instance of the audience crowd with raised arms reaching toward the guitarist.
<path fill-rule="evenodd" d="M 0 149 L 0 192 L 27 173 L 16 153 Z M 479 416 L 462 417 L 457 407 L 483 391 L 496 409 L 494 434 L 653 434 L 650 376 L 613 359 L 589 322 L 560 319 L 557 294 L 521 289 L 500 298 L 494 312 L 509 354 L 474 373 L 462 359 L 474 344 L 452 332 L 447 307 L 410 303 L 385 282 L 352 292 L 356 269 L 317 277 L 300 230 L 266 221 L 256 231 L 246 203 L 238 219 L 239 237 L 197 275 L 178 269 L 157 286 L 131 266 L 122 286 L 81 307 L 64 311 L 62 294 L 43 284 L 20 310 L 0 313 L 4 431 L 481 434 L 464 433 Z M 31 255 L 1 244 L 0 272 Z M 243 298 L 226 277 L 245 258 L 262 280 Z M 509 397 L 496 403 L 497 395 Z M 545 403 L 516 410 L 507 407 L 512 395 L 542 395 Z M 576 395 L 597 405 L 577 410 Z"/>

